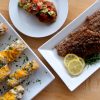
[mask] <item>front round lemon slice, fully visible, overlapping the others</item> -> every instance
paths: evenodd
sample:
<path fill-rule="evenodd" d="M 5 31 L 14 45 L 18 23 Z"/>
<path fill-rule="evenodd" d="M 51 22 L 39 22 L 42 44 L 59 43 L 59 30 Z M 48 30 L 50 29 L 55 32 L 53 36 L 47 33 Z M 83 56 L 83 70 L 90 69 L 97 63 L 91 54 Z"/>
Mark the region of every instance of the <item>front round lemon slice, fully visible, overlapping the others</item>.
<path fill-rule="evenodd" d="M 77 76 L 82 73 L 84 69 L 84 64 L 77 59 L 73 59 L 68 63 L 67 70 L 69 74 Z"/>

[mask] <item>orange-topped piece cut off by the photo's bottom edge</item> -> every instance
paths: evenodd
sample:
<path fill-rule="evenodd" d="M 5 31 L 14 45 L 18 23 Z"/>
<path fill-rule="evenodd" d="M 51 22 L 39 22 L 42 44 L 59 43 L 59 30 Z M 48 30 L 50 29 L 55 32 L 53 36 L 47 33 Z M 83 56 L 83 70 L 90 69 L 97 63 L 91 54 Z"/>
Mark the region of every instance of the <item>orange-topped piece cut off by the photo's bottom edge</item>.
<path fill-rule="evenodd" d="M 19 85 L 0 96 L 0 100 L 20 100 L 23 97 L 24 88 Z"/>

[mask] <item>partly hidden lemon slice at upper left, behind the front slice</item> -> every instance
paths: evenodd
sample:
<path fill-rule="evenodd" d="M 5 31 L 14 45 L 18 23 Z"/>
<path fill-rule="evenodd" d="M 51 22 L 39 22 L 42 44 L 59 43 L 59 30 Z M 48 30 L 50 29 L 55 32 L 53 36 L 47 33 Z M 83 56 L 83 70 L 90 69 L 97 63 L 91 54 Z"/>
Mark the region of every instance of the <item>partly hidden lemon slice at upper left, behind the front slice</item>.
<path fill-rule="evenodd" d="M 79 59 L 79 57 L 75 54 L 67 54 L 64 58 L 64 65 L 65 67 L 68 66 L 68 63 L 73 59 Z"/>

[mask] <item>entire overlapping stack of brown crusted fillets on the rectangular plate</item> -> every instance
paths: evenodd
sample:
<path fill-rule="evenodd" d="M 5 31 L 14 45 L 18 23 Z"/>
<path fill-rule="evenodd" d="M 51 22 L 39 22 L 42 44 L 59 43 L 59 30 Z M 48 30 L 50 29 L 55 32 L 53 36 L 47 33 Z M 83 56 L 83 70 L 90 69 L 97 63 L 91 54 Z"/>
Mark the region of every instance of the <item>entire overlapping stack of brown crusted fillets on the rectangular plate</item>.
<path fill-rule="evenodd" d="M 94 53 L 100 53 L 100 10 L 88 16 L 77 31 L 70 33 L 56 46 L 60 56 L 74 53 L 81 57 L 87 57 Z"/>

